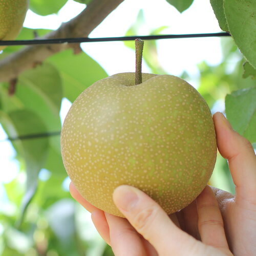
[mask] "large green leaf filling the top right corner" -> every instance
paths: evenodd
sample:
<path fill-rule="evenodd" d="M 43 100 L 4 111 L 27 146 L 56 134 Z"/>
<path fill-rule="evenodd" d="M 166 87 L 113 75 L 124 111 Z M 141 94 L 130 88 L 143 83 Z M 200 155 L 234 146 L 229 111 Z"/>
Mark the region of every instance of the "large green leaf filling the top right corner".
<path fill-rule="evenodd" d="M 255 0 L 224 0 L 229 32 L 254 69 L 256 69 L 255 10 Z"/>

